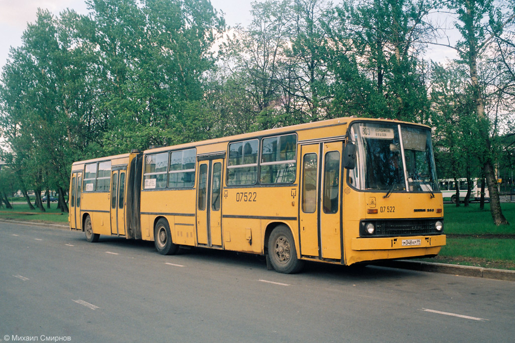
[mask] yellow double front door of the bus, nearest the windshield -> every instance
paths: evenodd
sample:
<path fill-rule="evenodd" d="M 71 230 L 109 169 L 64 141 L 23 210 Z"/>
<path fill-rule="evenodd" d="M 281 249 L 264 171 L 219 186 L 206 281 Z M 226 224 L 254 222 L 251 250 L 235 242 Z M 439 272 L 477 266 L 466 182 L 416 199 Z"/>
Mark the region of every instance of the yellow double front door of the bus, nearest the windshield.
<path fill-rule="evenodd" d="M 300 251 L 302 256 L 341 259 L 342 142 L 302 146 Z"/>

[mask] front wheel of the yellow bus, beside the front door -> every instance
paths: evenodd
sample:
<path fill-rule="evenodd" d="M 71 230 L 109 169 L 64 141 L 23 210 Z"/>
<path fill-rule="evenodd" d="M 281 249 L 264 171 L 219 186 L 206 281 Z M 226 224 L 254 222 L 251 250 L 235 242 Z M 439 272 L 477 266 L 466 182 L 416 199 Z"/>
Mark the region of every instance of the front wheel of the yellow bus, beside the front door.
<path fill-rule="evenodd" d="M 291 231 L 285 225 L 273 229 L 268 238 L 268 257 L 276 272 L 294 274 L 300 272 L 304 261 L 297 258 L 297 249 Z"/>

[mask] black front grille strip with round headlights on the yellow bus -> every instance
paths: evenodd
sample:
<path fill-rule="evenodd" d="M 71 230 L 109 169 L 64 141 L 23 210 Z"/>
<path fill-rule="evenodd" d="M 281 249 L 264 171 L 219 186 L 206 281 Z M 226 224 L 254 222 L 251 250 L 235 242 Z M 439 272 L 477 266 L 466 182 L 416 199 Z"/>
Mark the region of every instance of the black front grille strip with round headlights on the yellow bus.
<path fill-rule="evenodd" d="M 374 236 L 418 236 L 435 233 L 435 220 L 380 220 L 375 222 Z"/>

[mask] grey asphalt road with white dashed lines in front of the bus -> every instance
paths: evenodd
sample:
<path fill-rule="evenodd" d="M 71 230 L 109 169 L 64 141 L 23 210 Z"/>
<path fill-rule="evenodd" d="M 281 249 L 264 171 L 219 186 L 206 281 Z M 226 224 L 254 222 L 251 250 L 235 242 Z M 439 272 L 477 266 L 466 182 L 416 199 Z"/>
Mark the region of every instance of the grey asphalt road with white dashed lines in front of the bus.
<path fill-rule="evenodd" d="M 318 263 L 283 275 L 253 255 L 161 256 L 0 222 L 0 341 L 501 342 L 514 318 L 510 281 Z"/>

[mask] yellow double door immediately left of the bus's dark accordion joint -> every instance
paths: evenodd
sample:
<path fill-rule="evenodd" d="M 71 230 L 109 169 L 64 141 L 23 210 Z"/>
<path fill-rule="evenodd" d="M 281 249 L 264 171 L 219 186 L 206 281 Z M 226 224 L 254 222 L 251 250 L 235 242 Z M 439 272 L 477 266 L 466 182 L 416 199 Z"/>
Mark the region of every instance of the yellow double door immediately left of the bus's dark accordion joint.
<path fill-rule="evenodd" d="M 126 170 L 111 171 L 111 234 L 125 236 Z"/>

